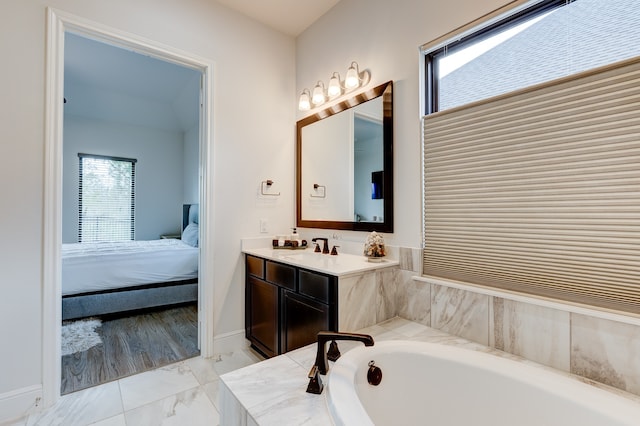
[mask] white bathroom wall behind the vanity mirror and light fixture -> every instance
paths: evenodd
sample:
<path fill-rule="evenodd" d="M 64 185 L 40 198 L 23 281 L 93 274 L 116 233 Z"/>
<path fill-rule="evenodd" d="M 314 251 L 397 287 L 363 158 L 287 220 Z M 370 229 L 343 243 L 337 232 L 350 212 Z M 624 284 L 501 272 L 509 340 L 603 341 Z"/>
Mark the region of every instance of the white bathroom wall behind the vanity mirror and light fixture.
<path fill-rule="evenodd" d="M 318 80 L 327 84 L 334 71 L 344 78 L 351 61 L 370 70 L 367 87 L 393 80 L 395 220 L 393 235 L 385 235 L 388 244 L 420 247 L 422 241 L 418 48 L 507 3 L 342 0 L 296 40 L 297 93 Z M 298 113 L 297 119 L 315 112 Z M 362 233 L 343 234 L 364 241 Z"/>

